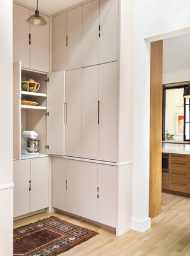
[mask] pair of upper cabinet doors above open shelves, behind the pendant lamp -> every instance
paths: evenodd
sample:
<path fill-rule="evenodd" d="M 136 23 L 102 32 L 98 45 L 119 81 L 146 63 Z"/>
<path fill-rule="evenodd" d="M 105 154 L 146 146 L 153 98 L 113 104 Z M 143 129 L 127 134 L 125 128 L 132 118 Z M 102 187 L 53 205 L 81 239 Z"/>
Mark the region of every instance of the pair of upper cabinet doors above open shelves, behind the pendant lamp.
<path fill-rule="evenodd" d="M 40 14 L 47 24 L 38 27 L 27 23 L 33 14 L 33 10 L 13 4 L 13 60 L 21 60 L 22 68 L 49 72 L 49 17 Z"/>

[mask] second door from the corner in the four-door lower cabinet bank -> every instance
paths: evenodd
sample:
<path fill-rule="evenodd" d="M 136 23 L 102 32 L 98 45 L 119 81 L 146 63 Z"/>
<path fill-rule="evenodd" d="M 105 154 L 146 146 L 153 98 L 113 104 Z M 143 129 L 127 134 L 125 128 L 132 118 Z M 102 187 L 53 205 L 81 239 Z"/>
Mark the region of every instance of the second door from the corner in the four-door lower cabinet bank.
<path fill-rule="evenodd" d="M 81 162 L 66 160 L 66 211 L 81 215 Z"/>

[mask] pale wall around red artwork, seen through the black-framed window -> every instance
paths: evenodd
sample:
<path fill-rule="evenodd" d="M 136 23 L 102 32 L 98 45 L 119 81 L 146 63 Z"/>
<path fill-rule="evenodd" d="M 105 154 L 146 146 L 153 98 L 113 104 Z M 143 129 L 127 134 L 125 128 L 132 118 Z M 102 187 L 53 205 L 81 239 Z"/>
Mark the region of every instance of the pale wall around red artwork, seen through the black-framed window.
<path fill-rule="evenodd" d="M 174 134 L 175 140 L 181 141 L 183 141 L 183 134 L 176 135 L 176 114 L 183 113 L 183 91 L 183 88 L 166 90 L 165 130 Z"/>

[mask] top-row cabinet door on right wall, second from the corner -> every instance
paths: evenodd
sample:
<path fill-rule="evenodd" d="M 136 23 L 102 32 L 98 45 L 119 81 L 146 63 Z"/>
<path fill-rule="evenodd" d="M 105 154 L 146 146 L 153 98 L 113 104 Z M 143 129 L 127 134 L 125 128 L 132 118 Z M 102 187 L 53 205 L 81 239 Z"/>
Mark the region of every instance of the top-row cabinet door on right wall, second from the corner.
<path fill-rule="evenodd" d="M 82 67 L 82 6 L 67 13 L 67 69 Z"/>

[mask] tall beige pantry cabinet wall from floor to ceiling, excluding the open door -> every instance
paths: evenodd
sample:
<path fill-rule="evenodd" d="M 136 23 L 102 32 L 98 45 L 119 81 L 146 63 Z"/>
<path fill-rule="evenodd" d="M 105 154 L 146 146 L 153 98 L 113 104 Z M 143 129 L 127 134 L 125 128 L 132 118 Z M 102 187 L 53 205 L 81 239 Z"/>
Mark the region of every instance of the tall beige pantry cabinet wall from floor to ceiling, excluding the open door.
<path fill-rule="evenodd" d="M 52 21 L 53 71 L 65 70 L 65 155 L 52 159 L 53 207 L 117 235 L 131 228 L 132 15 L 131 0 L 93 0 Z"/>

